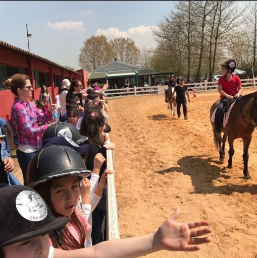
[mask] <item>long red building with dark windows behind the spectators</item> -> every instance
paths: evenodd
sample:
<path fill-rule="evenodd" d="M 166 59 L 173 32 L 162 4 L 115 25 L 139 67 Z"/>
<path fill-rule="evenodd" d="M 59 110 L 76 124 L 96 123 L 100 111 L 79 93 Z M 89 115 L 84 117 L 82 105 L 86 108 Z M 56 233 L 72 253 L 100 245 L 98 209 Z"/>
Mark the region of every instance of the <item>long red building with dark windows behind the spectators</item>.
<path fill-rule="evenodd" d="M 68 65 L 68 64 L 67 64 Z M 84 69 L 72 71 L 44 57 L 0 41 L 0 117 L 6 119 L 14 101 L 14 94 L 3 82 L 13 74 L 26 74 L 33 85 L 33 99 L 39 99 L 41 85 L 48 88 L 53 101 L 63 79 L 80 80 L 87 87 L 88 72 Z"/>

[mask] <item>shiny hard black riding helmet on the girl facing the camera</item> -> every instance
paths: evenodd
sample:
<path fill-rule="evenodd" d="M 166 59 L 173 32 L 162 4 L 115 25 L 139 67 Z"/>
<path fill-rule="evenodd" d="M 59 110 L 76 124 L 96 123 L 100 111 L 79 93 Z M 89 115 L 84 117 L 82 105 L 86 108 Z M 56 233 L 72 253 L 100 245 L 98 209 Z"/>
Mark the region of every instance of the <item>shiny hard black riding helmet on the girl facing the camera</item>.
<path fill-rule="evenodd" d="M 35 185 L 62 176 L 91 175 L 81 156 L 68 146 L 51 145 L 41 149 L 29 162 L 26 185 Z"/>

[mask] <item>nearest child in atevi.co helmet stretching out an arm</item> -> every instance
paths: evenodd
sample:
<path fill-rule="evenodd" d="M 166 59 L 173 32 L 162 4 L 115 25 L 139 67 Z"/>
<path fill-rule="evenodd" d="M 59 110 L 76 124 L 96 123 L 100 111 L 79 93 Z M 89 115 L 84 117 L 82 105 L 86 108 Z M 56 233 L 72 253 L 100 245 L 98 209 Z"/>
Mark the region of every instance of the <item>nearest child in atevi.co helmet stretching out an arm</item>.
<path fill-rule="evenodd" d="M 0 188 L 0 196 L 0 206 L 5 207 L 5 212 L 0 213 L 1 230 L 5 232 L 0 235 L 2 258 L 136 258 L 160 250 L 197 251 L 200 244 L 211 242 L 211 238 L 205 236 L 212 232 L 208 227 L 210 222 L 202 220 L 177 223 L 176 220 L 181 215 L 178 207 L 154 233 L 110 240 L 77 250 L 54 249 L 49 244 L 48 233 L 61 231 L 69 221 L 67 218 L 55 218 L 39 193 L 24 185 Z M 31 214 L 37 215 L 38 220 L 21 208 L 29 208 L 27 200 L 32 196 L 37 198 L 32 204 L 37 202 L 37 205 Z M 200 229 L 202 226 L 204 228 Z"/>

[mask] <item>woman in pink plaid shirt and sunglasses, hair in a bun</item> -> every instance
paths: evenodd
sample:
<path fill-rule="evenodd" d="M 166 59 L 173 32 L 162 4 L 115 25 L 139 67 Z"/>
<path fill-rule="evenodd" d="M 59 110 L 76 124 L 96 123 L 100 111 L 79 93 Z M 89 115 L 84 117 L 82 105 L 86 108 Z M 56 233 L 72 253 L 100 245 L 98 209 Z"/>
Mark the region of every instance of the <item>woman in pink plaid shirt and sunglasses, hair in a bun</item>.
<path fill-rule="evenodd" d="M 15 95 L 11 108 L 11 122 L 17 136 L 17 159 L 22 170 L 23 183 L 26 183 L 26 170 L 29 161 L 41 148 L 41 135 L 48 128 L 47 122 L 52 119 L 52 104 L 42 114 L 28 99 L 32 96 L 33 86 L 27 75 L 15 74 L 4 82 Z M 38 126 L 37 121 L 43 125 Z"/>

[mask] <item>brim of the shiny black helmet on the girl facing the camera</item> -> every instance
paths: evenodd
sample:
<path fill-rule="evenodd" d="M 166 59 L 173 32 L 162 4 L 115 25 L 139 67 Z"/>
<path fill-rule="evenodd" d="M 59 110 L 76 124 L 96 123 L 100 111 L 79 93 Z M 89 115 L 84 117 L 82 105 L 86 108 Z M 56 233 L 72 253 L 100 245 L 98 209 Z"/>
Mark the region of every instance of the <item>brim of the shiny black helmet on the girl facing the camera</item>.
<path fill-rule="evenodd" d="M 30 184 L 28 184 L 27 186 L 34 188 L 37 184 L 43 183 L 45 181 L 48 180 L 53 180 L 55 178 L 59 178 L 59 177 L 70 177 L 70 176 L 81 176 L 82 179 L 90 176 L 92 174 L 92 172 L 90 170 L 85 170 L 85 169 L 78 169 L 78 170 L 74 170 L 74 169 L 67 169 L 65 171 L 60 171 L 60 172 L 56 172 L 53 174 L 48 175 L 46 178 L 42 178 L 36 182 L 32 182 Z"/>

